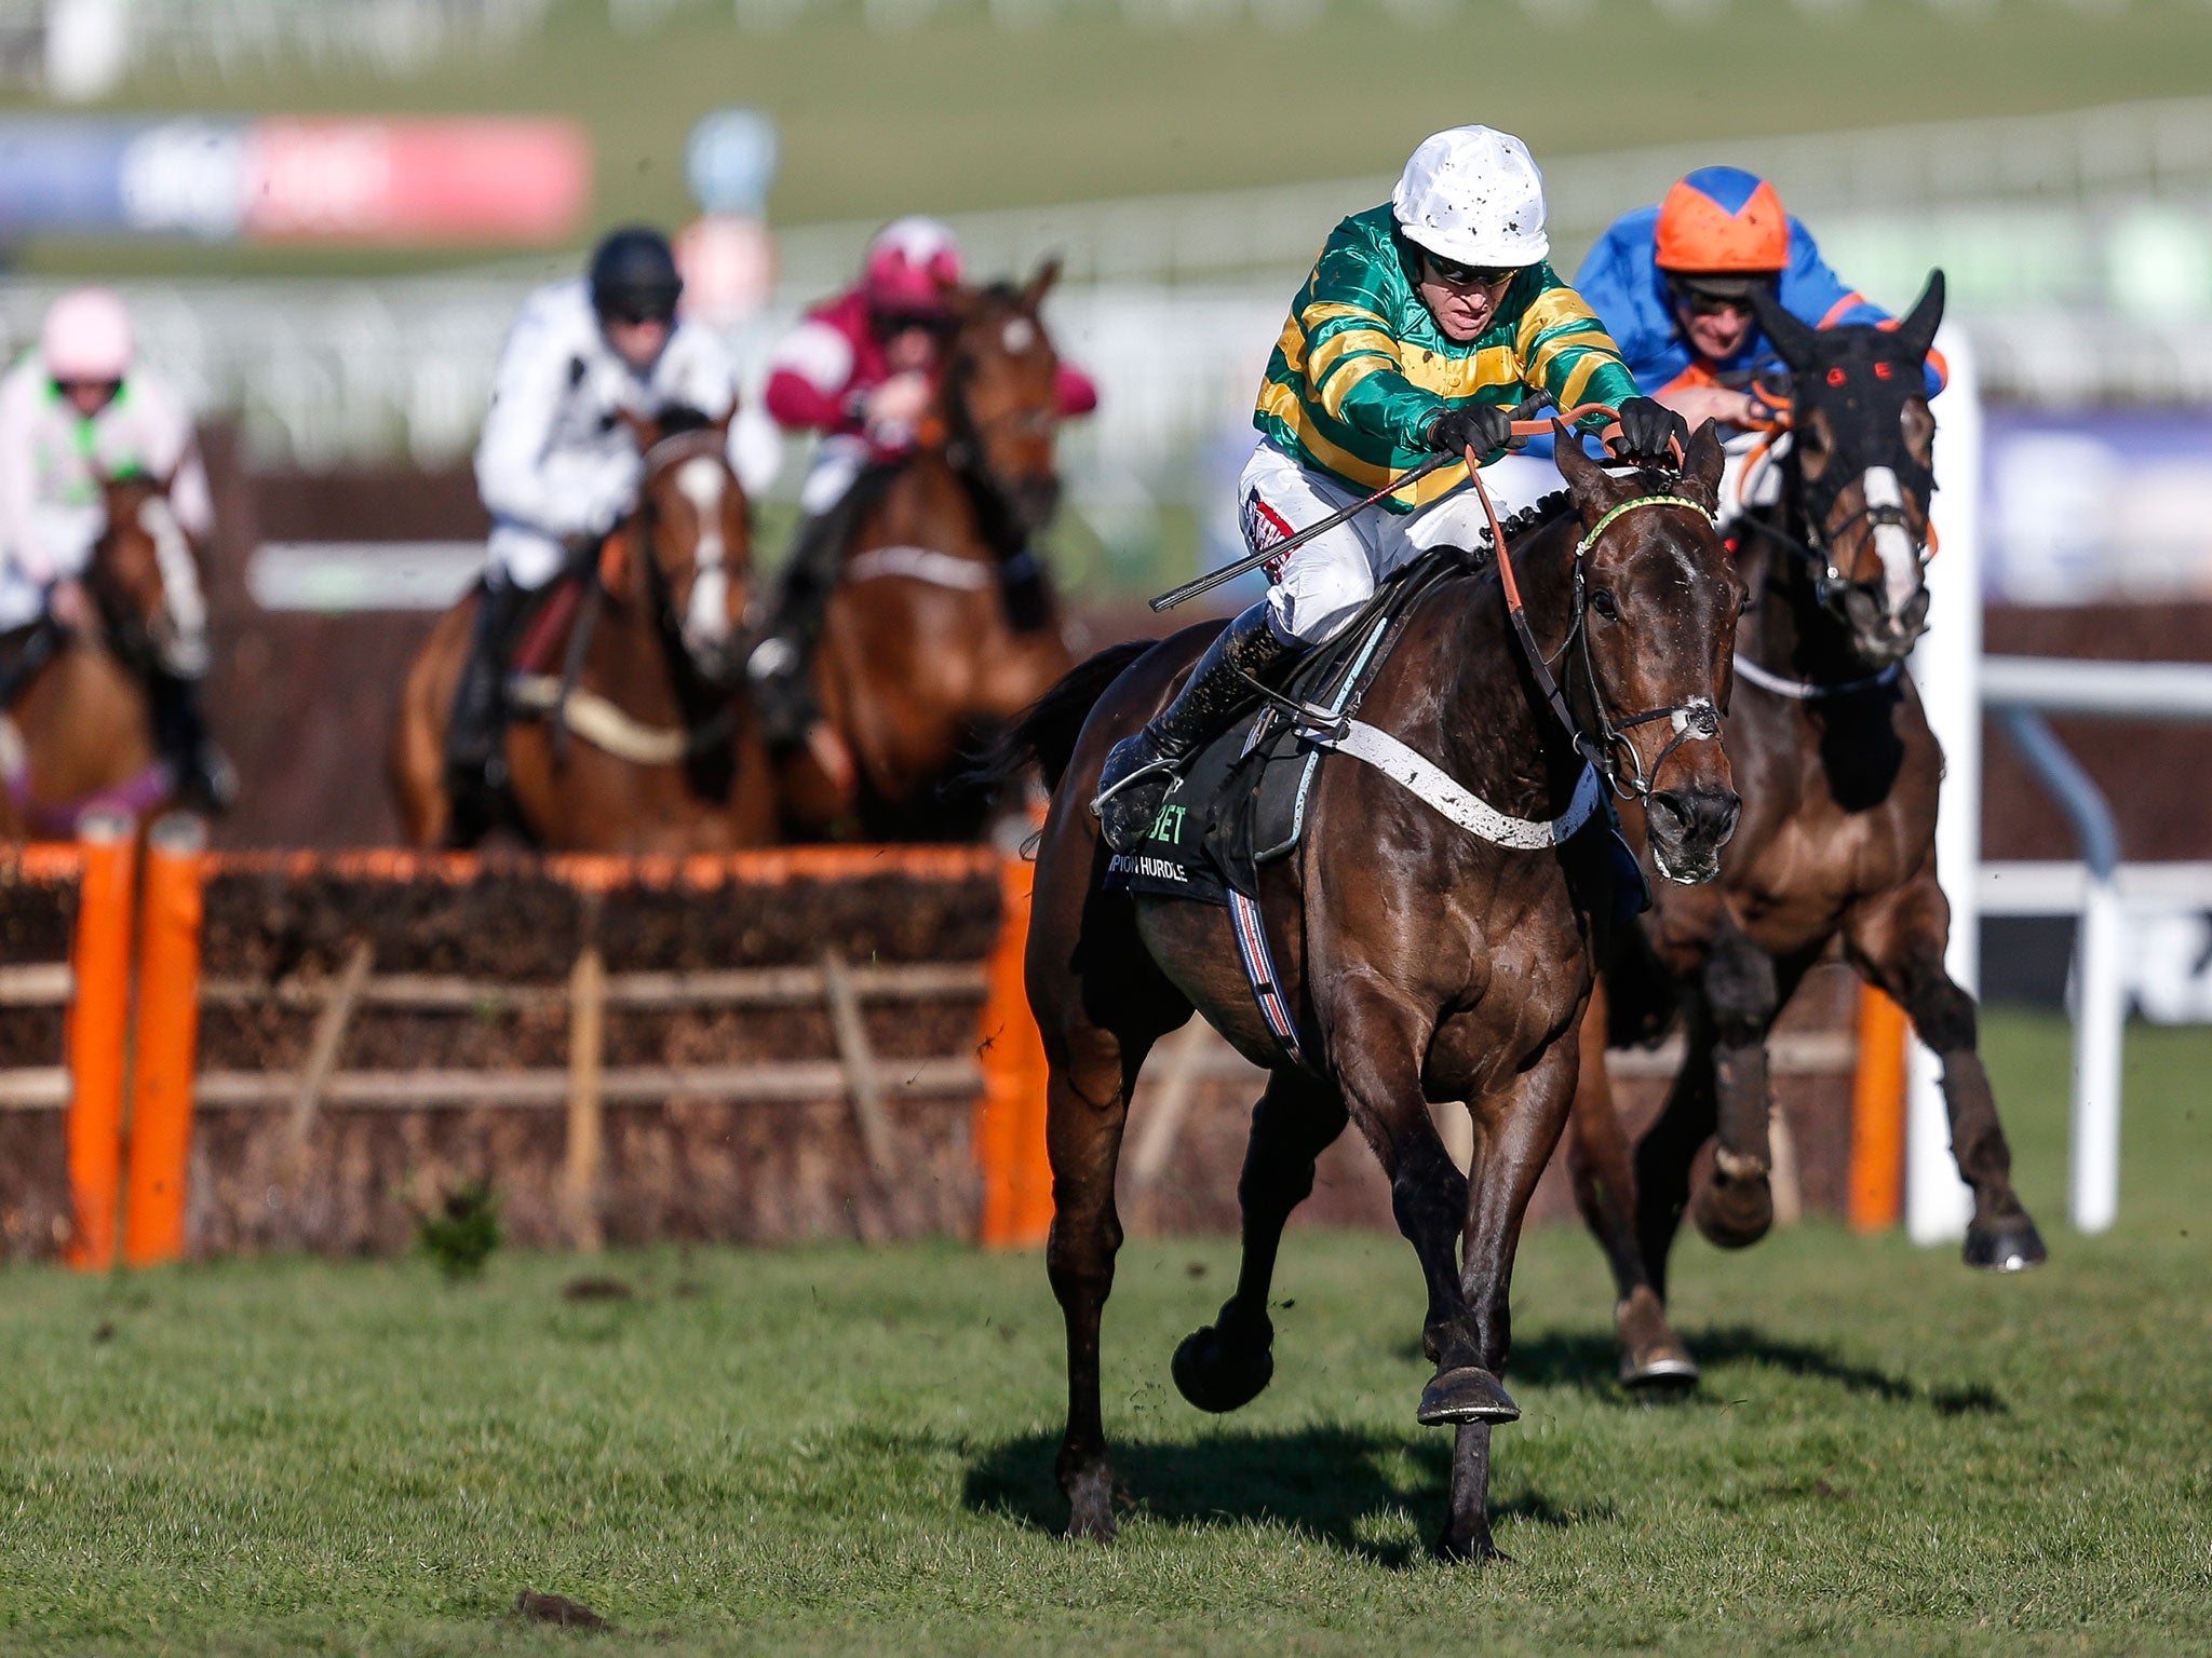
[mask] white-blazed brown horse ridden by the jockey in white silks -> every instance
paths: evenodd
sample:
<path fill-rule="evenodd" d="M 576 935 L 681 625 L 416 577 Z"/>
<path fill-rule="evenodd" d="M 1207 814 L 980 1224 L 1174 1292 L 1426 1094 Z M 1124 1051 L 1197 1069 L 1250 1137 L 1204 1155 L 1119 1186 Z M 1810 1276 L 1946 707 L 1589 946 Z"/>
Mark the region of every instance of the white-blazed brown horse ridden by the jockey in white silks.
<path fill-rule="evenodd" d="M 573 595 L 524 628 L 507 776 L 522 833 L 562 851 L 726 851 L 774 838 L 768 754 L 728 690 L 752 528 L 728 420 L 633 422 L 637 508 Z M 438 619 L 400 692 L 392 787 L 407 838 L 449 838 L 445 725 L 478 595 Z"/>

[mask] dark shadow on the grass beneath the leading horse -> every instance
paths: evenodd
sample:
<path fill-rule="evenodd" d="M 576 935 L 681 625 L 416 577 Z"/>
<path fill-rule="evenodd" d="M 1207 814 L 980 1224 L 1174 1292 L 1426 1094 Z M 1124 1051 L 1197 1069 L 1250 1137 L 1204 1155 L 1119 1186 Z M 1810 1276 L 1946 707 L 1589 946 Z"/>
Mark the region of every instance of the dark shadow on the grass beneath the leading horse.
<path fill-rule="evenodd" d="M 1040 1532 L 1060 1532 L 1068 1503 L 1053 1481 L 1060 1437 L 1031 1433 L 984 1448 L 967 1475 L 964 1501 Z M 1409 1514 L 1433 1530 L 1451 1494 L 1451 1435 L 1365 1433 L 1343 1426 L 1296 1433 L 1221 1433 L 1199 1439 L 1124 1439 L 1113 1448 L 1115 1503 L 1126 1514 L 1206 1530 L 1256 1521 L 1298 1530 L 1343 1554 L 1387 1570 L 1429 1559 L 1422 1541 L 1363 1536 L 1363 1521 Z M 1411 1479 L 1402 1470 L 1411 1463 Z M 1394 1477 L 1391 1470 L 1400 1470 Z M 1540 1494 L 1498 1497 L 1493 1521 L 1566 1530 L 1604 1521 L 1608 1508 L 1559 1508 Z"/>

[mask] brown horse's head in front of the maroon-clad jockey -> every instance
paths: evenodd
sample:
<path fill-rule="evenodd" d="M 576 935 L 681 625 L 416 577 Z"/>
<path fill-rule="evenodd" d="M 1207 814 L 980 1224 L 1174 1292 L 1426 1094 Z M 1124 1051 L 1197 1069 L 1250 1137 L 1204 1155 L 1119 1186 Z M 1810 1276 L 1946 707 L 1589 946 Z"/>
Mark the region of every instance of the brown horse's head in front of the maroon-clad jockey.
<path fill-rule="evenodd" d="M 1060 356 L 1037 309 L 1057 276 L 1060 261 L 1048 259 L 1022 287 L 958 294 L 945 349 L 947 455 L 1006 502 L 1024 537 L 1060 506 Z"/>

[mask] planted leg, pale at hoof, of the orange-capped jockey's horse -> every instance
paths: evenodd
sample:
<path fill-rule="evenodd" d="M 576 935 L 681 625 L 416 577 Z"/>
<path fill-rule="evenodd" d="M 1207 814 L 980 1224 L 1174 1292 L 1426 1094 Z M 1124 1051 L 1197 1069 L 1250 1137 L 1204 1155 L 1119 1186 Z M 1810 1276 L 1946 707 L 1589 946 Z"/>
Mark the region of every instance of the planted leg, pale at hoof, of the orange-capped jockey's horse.
<path fill-rule="evenodd" d="M 1582 1059 L 1575 1103 L 1566 1116 L 1566 1169 L 1575 1183 L 1575 1207 L 1613 1267 L 1613 1333 L 1621 1344 L 1621 1384 L 1692 1386 L 1697 1360 L 1666 1322 L 1666 1307 L 1644 1269 L 1637 1240 L 1637 1183 L 1628 1161 L 1628 1134 L 1613 1103 L 1606 1074 L 1606 984 L 1590 990 L 1582 1015 Z"/>

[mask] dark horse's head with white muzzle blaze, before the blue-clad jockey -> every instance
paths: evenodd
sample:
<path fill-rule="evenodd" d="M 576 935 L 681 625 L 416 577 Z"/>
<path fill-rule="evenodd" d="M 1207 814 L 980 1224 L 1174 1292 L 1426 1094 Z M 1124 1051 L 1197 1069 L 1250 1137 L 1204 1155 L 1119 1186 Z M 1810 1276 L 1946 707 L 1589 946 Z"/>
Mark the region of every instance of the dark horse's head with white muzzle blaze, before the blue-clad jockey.
<path fill-rule="evenodd" d="M 1759 327 L 1790 365 L 1790 489 L 1820 557 L 1820 604 L 1869 668 L 1900 661 L 1929 626 L 1929 497 L 1936 416 L 1927 358 L 1942 272 L 1891 327 L 1807 327 L 1754 292 Z"/>

